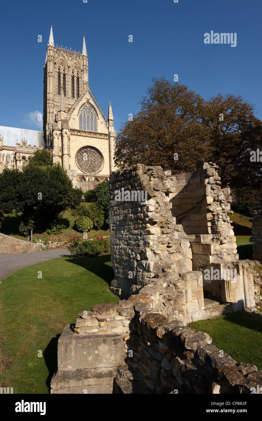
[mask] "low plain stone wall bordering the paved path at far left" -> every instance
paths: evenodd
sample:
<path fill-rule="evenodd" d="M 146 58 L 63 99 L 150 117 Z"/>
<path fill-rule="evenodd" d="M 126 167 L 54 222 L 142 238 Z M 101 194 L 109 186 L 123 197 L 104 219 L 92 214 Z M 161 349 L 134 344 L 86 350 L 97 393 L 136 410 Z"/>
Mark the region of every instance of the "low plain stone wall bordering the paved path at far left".
<path fill-rule="evenodd" d="M 42 250 L 42 245 L 19 240 L 0 233 L 0 254 L 25 253 L 26 251 Z"/>

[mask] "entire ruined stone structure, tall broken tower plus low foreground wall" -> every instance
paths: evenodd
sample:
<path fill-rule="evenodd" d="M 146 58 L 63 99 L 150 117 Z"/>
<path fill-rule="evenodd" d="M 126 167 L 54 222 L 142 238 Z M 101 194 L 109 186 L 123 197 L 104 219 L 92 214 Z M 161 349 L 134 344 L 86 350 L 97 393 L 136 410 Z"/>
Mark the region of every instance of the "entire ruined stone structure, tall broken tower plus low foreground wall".
<path fill-rule="evenodd" d="M 221 356 L 209 335 L 185 326 L 209 317 L 204 309 L 205 265 L 238 269 L 237 282 L 220 280 L 221 297 L 231 311 L 238 309 L 239 301 L 241 308 L 254 304 L 251 266 L 249 261 L 237 260 L 228 218 L 229 192 L 223 189 L 227 196 L 220 195 L 214 168 L 204 164 L 194 173 L 192 180 L 199 177 L 199 189 L 205 185 L 210 195 L 191 206 L 182 224 L 171 213 L 182 175 L 143 165 L 112 174 L 109 222 L 115 277 L 111 290 L 124 299 L 95 305 L 79 314 L 75 325 L 65 327 L 58 340 L 58 371 L 51 393 L 245 394 L 262 384 L 257 367 Z M 190 186 L 191 177 L 183 176 Z M 114 192 L 122 188 L 147 190 L 148 202 L 116 202 Z M 173 214 L 178 211 L 173 209 Z M 198 224 L 198 233 L 186 234 L 193 226 L 183 229 L 183 222 L 204 221 L 199 216 L 205 211 L 210 214 L 207 223 Z M 196 270 L 192 271 L 192 263 Z M 206 291 L 220 297 L 210 285 Z"/>

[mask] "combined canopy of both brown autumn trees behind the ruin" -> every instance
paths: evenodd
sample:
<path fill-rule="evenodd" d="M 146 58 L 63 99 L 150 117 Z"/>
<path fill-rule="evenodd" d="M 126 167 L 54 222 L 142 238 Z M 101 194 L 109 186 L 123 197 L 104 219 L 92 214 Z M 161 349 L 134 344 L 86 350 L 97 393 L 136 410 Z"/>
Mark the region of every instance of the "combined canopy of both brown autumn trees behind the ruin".
<path fill-rule="evenodd" d="M 251 162 L 250 151 L 261 148 L 262 123 L 241 96 L 218 94 L 204 101 L 185 85 L 162 77 L 153 78 L 139 104 L 141 110 L 116 138 L 119 168 L 143 163 L 176 174 L 212 161 L 220 166 L 222 185 L 236 190 L 236 200 L 239 187 L 252 187 L 253 195 L 259 191 L 262 163 Z"/>

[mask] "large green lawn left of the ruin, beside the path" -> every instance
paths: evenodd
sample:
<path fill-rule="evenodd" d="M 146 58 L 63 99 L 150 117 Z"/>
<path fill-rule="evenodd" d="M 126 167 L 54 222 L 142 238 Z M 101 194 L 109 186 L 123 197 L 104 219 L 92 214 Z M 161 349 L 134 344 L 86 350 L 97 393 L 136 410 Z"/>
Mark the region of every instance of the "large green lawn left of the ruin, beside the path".
<path fill-rule="evenodd" d="M 119 300 L 109 291 L 112 277 L 107 254 L 50 260 L 5 278 L 0 285 L 0 386 L 13 387 L 13 393 L 48 393 L 64 326 L 94 304 Z"/>

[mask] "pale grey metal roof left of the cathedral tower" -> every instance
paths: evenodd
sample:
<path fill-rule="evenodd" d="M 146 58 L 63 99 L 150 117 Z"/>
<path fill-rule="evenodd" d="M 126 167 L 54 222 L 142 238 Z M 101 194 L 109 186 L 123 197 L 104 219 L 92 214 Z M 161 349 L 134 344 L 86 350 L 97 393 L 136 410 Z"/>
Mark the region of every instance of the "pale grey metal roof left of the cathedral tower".
<path fill-rule="evenodd" d="M 22 140 L 27 140 L 27 145 L 45 147 L 44 132 L 37 130 L 19 129 L 16 127 L 0 126 L 0 136 L 3 136 L 4 146 L 16 146 Z"/>

